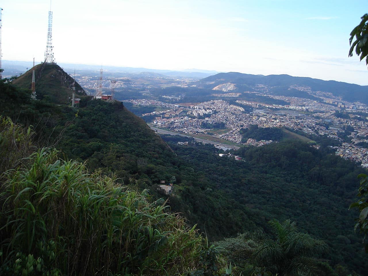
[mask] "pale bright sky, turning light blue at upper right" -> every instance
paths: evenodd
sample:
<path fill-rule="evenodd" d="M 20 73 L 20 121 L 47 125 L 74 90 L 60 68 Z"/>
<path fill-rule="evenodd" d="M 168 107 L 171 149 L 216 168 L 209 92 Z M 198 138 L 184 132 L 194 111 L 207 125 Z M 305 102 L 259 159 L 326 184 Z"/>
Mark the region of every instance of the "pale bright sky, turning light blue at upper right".
<path fill-rule="evenodd" d="M 44 60 L 49 0 L 2 0 L 3 60 Z M 368 85 L 349 34 L 367 0 L 53 0 L 56 62 Z"/>

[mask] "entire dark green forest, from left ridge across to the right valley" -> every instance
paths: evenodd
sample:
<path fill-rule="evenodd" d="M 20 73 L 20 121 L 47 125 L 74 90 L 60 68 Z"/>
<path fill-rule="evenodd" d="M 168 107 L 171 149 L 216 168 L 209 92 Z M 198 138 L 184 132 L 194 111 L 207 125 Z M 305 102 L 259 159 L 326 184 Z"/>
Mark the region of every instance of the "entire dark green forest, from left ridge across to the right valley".
<path fill-rule="evenodd" d="M 241 148 L 233 154 L 243 160 L 235 160 L 192 139 L 177 145 L 178 139 L 188 138 L 165 136 L 168 146 L 117 101 L 85 96 L 76 109 L 47 98 L 33 101 L 29 91 L 10 82 L 0 85 L 1 115 L 32 125 L 33 143 L 59 149 L 61 160 L 85 162 L 81 172 L 97 170 L 116 179 L 114 185 L 147 188 L 152 201 L 167 198 L 156 184 L 174 176 L 174 192 L 166 204 L 191 226 L 197 224 L 209 240 L 256 229 L 272 234 L 269 220 L 290 219 L 301 232 L 326 242 L 318 257 L 331 266 L 362 275 L 367 270 L 361 238 L 353 231 L 357 212 L 347 210 L 355 200 L 357 175 L 365 170 L 324 146 L 316 150 L 300 141 L 283 141 Z M 249 264 L 256 266 L 251 259 Z"/>

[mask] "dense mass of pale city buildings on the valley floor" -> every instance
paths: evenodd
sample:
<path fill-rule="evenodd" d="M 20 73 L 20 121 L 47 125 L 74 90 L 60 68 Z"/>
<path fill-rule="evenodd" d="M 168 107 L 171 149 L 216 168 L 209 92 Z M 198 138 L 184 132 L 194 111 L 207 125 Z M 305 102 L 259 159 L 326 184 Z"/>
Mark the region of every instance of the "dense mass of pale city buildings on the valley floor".
<path fill-rule="evenodd" d="M 295 97 L 273 97 L 283 99 L 289 102 L 290 105 L 275 106 L 257 102 L 237 101 L 241 105 L 258 107 L 250 113 L 245 113 L 243 107 L 236 104 L 230 105 L 229 102 L 224 100 L 211 100 L 197 105 L 171 105 L 156 100 L 130 101 L 136 105 L 159 105 L 168 108 L 160 116 L 156 116 L 153 121 L 155 127 L 185 134 L 210 134 L 238 144 L 241 144 L 243 139 L 240 129 L 254 124 L 259 127 L 285 127 L 308 134 L 326 135 L 341 142 L 343 142 L 341 133 L 344 132 L 346 126 L 350 126 L 354 128 L 354 132 L 350 137 L 351 142 L 343 142 L 341 146 L 336 147 L 336 155 L 354 160 L 361 163 L 362 166 L 368 164 L 368 150 L 357 145 L 359 142 L 368 142 L 368 121 L 337 118 L 335 117 L 335 110 L 338 110 L 338 108 L 331 104 Z M 357 107 L 357 105 L 354 106 Z M 366 107 L 359 105 L 358 108 L 360 111 L 364 111 Z M 144 114 L 143 116 L 152 114 L 157 114 L 157 112 Z M 213 129 L 204 128 L 204 125 L 216 123 L 223 123 L 224 129 L 216 132 Z M 248 139 L 244 144 L 260 146 L 270 142 L 272 141 Z"/>

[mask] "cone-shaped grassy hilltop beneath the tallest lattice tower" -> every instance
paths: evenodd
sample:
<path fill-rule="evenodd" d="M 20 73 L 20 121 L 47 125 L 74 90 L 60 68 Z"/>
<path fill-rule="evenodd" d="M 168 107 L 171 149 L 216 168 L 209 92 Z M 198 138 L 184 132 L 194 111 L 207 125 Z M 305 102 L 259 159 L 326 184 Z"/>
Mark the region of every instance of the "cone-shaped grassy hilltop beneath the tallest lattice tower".
<path fill-rule="evenodd" d="M 59 65 L 41 63 L 35 66 L 36 98 L 47 98 L 53 103 L 71 103 L 74 79 Z M 15 86 L 31 89 L 32 68 L 13 81 Z M 75 82 L 75 93 L 85 96 L 84 89 Z"/>

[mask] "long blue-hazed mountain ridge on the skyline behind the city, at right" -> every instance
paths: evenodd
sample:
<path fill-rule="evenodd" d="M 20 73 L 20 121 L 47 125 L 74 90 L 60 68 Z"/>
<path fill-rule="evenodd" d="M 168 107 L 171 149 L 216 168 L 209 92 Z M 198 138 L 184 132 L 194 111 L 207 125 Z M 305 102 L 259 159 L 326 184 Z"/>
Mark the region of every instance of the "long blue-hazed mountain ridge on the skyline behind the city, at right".
<path fill-rule="evenodd" d="M 313 99 L 313 92 L 332 93 L 348 102 L 368 104 L 368 86 L 348 84 L 339 81 L 323 81 L 307 77 L 292 77 L 290 75 L 251 75 L 237 72 L 219 73 L 197 82 L 198 88 L 213 89 L 223 84 L 236 87 L 231 92 L 268 92 L 272 95 L 295 96 Z"/>

